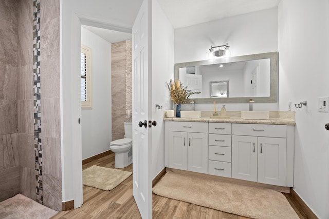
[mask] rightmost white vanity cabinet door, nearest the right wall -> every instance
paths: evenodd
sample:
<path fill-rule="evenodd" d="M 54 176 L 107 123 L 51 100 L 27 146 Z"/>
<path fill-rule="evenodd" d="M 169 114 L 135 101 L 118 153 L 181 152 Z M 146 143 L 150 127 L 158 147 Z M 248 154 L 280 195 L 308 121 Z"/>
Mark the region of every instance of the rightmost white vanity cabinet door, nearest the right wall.
<path fill-rule="evenodd" d="M 286 186 L 286 138 L 258 138 L 258 180 Z"/>

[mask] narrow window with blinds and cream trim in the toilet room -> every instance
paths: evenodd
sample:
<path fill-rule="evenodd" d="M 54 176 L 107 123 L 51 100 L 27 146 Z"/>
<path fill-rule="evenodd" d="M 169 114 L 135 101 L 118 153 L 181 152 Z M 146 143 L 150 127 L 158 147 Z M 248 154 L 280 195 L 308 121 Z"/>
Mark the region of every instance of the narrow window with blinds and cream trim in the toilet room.
<path fill-rule="evenodd" d="M 81 45 L 81 108 L 92 108 L 92 49 Z"/>

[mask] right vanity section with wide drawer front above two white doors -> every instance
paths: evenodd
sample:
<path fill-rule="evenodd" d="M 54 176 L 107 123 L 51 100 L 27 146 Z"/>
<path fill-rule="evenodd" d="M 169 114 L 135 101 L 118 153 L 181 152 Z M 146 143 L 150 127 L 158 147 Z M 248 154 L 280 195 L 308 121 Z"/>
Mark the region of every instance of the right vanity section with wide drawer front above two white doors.
<path fill-rule="evenodd" d="M 232 124 L 232 178 L 287 186 L 287 126 Z"/>

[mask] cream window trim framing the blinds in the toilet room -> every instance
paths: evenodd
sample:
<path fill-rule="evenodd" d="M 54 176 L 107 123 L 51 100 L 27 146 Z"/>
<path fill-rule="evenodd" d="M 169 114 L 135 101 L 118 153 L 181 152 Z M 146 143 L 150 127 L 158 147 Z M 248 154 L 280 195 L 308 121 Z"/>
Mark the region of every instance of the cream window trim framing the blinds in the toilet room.
<path fill-rule="evenodd" d="M 87 75 L 86 75 L 86 96 L 87 101 L 81 101 L 82 109 L 92 109 L 93 108 L 93 50 L 87 46 L 81 45 L 81 53 L 86 54 L 87 59 Z M 80 72 L 81 81 L 81 72 Z M 80 83 L 81 85 L 81 83 Z M 81 89 L 80 89 L 81 91 Z M 81 98 L 81 94 L 80 94 Z"/>

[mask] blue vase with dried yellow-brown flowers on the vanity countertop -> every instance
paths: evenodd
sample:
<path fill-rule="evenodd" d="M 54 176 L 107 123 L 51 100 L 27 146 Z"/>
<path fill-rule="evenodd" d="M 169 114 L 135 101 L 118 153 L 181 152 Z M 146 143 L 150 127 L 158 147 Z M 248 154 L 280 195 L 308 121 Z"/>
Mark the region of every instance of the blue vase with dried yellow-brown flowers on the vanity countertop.
<path fill-rule="evenodd" d="M 198 94 L 200 92 L 191 92 L 191 90 L 188 90 L 187 87 L 184 87 L 179 80 L 173 82 L 173 80 L 170 79 L 170 82 L 166 82 L 166 84 L 171 100 L 177 105 L 176 117 L 180 117 L 181 104 L 187 103 L 188 98 L 192 94 Z"/>

